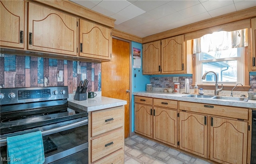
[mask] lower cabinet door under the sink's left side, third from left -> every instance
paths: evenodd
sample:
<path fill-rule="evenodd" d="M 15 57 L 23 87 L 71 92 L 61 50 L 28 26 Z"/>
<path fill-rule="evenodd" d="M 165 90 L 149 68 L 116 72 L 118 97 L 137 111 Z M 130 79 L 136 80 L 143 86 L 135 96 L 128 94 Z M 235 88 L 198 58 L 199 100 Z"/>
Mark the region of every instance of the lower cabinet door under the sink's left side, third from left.
<path fill-rule="evenodd" d="M 180 111 L 180 149 L 207 158 L 207 117 Z"/>

